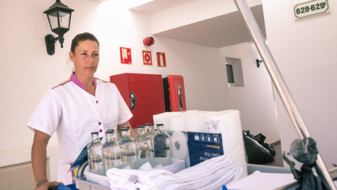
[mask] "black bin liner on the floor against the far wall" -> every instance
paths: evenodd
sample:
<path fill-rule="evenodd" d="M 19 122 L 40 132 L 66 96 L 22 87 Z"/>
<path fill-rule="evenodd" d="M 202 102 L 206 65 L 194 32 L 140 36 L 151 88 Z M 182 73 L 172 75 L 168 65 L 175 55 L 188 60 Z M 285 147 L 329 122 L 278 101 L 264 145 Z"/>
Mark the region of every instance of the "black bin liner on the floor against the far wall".
<path fill-rule="evenodd" d="M 254 136 L 249 130 L 242 131 L 242 133 L 248 163 L 263 164 L 275 162 L 275 148 L 265 143 L 265 136 L 263 134 Z"/>

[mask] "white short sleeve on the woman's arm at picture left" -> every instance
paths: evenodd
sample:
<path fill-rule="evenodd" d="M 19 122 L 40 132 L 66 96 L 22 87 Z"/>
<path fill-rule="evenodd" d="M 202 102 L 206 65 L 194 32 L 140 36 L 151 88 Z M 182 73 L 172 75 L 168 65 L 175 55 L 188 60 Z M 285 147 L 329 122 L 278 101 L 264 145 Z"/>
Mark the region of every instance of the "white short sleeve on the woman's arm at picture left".
<path fill-rule="evenodd" d="M 52 136 L 60 122 L 61 106 L 58 94 L 53 89 L 50 89 L 41 99 L 27 127 L 32 129 L 33 132 L 39 130 Z"/>

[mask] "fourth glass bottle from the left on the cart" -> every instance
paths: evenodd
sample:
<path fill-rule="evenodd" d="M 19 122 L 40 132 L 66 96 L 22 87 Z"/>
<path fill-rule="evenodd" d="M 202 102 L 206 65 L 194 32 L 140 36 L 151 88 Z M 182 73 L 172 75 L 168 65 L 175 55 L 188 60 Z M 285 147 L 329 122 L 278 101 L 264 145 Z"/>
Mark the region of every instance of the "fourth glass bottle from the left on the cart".
<path fill-rule="evenodd" d="M 136 153 L 137 153 L 137 169 L 143 164 L 151 163 L 150 139 L 145 136 L 144 126 L 137 126 Z"/>

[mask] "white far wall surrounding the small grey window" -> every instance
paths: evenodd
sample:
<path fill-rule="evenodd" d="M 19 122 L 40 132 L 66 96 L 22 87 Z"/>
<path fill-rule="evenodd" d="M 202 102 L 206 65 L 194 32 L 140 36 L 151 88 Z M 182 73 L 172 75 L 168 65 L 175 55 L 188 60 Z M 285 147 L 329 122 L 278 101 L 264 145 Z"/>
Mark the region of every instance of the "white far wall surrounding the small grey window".
<path fill-rule="evenodd" d="M 230 109 L 240 111 L 242 129 L 250 130 L 255 135 L 262 133 L 267 137 L 267 143 L 279 141 L 272 80 L 263 63 L 260 68 L 256 65 L 256 59 L 261 58 L 255 44 L 237 44 L 220 50 L 223 58 L 241 59 L 244 87 L 227 87 L 227 76 L 223 75 L 220 78 L 223 83 L 220 94 L 226 97 Z M 221 67 L 225 72 L 225 63 Z"/>

